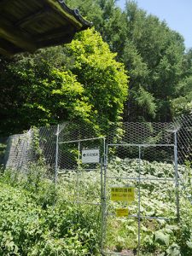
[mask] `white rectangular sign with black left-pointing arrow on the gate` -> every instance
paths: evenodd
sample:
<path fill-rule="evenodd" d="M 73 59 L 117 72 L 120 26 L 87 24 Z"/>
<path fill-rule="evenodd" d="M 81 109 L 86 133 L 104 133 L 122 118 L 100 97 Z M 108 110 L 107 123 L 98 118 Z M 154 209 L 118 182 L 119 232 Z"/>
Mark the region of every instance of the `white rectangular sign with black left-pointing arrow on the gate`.
<path fill-rule="evenodd" d="M 90 164 L 90 163 L 99 163 L 100 161 L 100 153 L 99 149 L 83 149 L 82 150 L 82 163 Z"/>

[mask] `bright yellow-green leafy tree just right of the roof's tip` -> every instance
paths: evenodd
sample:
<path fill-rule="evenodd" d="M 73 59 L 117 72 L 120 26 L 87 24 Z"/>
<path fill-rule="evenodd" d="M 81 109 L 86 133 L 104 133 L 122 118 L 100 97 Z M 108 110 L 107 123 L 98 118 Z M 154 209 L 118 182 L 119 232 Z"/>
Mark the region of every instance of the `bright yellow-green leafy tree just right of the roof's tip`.
<path fill-rule="evenodd" d="M 67 48 L 75 61 L 72 72 L 83 84 L 96 123 L 105 129 L 109 122 L 119 122 L 128 90 L 124 65 L 115 61 L 116 54 L 93 29 L 79 33 Z"/>

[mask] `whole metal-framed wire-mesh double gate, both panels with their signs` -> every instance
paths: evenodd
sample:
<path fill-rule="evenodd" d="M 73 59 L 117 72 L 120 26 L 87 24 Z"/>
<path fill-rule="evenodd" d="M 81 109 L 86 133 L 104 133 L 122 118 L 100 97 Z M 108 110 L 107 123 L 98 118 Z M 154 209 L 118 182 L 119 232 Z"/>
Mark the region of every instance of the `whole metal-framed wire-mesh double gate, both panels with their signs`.
<path fill-rule="evenodd" d="M 94 207 L 91 211 L 98 212 L 98 236 L 101 237 L 102 254 L 130 255 L 128 251 L 127 254 L 122 254 L 108 247 L 108 237 L 111 238 L 113 232 L 119 229 L 122 219 L 131 219 L 129 230 L 131 226 L 137 225 L 137 234 L 133 234 L 137 241 L 137 255 L 141 250 L 143 219 L 167 219 L 166 212 L 155 212 L 155 206 L 151 209 L 155 214 L 143 213 L 143 208 L 146 207 L 143 205 L 143 196 L 146 196 L 143 194 L 143 186 L 153 185 L 155 189 L 156 184 L 162 183 L 164 188 L 172 187 L 176 202 L 175 207 L 172 207 L 172 217 L 179 218 L 177 134 L 174 134 L 175 142 L 172 144 L 111 143 L 106 146 L 104 137 L 63 141 L 60 133 L 57 133 L 55 183 L 62 179 L 65 186 L 68 186 L 71 193 L 67 195 L 67 201 L 77 206 L 77 212 L 81 205 Z M 166 177 L 164 172 L 161 173 L 162 177 L 155 174 L 146 175 L 150 162 L 158 159 L 160 162 L 157 162 L 157 165 L 160 166 L 162 162 L 170 165 L 171 176 Z M 121 172 L 122 166 L 125 168 L 124 172 Z M 85 180 L 92 183 L 93 189 L 90 189 L 90 184 L 87 186 Z M 125 194 L 131 191 L 131 200 L 119 201 L 121 191 Z M 115 215 L 117 218 L 114 218 Z M 113 225 L 116 225 L 115 229 L 111 230 Z M 125 240 L 133 239 L 129 232 L 124 235 Z"/>

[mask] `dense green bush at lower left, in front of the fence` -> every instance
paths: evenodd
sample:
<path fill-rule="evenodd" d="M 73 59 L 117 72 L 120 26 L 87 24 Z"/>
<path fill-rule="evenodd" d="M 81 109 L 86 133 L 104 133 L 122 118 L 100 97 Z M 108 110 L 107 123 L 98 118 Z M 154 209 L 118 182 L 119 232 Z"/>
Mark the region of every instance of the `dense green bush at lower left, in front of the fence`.
<path fill-rule="evenodd" d="M 56 201 L 56 190 L 37 176 L 3 174 L 0 255 L 97 255 L 98 212 Z"/>

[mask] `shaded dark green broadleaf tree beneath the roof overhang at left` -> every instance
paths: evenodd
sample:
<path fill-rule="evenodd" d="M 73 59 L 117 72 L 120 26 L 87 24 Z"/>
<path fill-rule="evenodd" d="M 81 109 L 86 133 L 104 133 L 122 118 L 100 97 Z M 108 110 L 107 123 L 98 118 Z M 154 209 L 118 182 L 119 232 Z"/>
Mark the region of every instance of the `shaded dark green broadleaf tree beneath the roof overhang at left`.
<path fill-rule="evenodd" d="M 84 101 L 84 89 L 73 73 L 52 66 L 39 55 L 41 52 L 23 57 L 9 65 L 1 76 L 0 86 L 7 89 L 1 102 L 4 114 L 1 132 L 19 132 L 31 125 L 53 125 L 71 115 L 82 116 L 81 108 L 84 115 L 90 112 Z"/>

